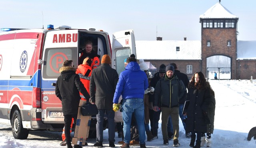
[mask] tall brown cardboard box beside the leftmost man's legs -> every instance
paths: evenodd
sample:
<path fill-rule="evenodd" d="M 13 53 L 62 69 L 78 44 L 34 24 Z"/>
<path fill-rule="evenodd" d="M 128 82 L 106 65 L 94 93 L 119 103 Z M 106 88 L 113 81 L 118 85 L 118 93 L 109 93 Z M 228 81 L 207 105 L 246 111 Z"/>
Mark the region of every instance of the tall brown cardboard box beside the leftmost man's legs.
<path fill-rule="evenodd" d="M 85 100 L 80 100 L 78 107 L 78 114 L 76 120 L 76 129 L 74 132 L 74 138 L 72 138 L 72 144 L 84 145 L 89 135 L 91 116 L 82 116 L 81 107 L 86 103 Z"/>

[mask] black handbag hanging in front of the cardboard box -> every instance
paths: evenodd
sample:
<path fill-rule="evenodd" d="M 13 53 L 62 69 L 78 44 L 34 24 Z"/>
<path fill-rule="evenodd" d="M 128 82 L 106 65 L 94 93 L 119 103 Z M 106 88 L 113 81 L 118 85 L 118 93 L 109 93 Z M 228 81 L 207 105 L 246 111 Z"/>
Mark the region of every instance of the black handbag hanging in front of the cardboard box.
<path fill-rule="evenodd" d="M 92 116 L 97 115 L 99 113 L 96 104 L 91 104 L 89 101 L 86 101 L 85 105 L 81 107 L 81 114 L 83 116 Z"/>

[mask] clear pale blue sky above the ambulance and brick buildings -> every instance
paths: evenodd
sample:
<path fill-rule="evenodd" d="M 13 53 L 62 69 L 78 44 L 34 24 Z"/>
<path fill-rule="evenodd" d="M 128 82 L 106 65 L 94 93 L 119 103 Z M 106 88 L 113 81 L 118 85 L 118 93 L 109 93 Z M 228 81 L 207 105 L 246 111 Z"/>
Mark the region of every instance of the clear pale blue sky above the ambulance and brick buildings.
<path fill-rule="evenodd" d="M 1 0 L 0 28 L 68 25 L 109 33 L 134 29 L 136 40 L 201 40 L 199 16 L 219 0 Z M 239 17 L 238 40 L 256 41 L 256 0 L 221 0 Z"/>

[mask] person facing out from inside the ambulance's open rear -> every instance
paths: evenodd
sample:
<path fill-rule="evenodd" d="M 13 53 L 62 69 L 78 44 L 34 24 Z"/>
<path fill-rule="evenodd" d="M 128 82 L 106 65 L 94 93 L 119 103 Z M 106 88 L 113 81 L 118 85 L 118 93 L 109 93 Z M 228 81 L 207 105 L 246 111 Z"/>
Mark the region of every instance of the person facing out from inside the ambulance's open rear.
<path fill-rule="evenodd" d="M 78 65 L 83 64 L 84 59 L 86 57 L 89 57 L 92 60 L 92 65 L 91 65 L 92 69 L 100 66 L 100 60 L 99 60 L 100 55 L 98 55 L 92 50 L 92 42 L 86 41 L 84 48 L 85 49 L 82 51 L 79 57 Z"/>

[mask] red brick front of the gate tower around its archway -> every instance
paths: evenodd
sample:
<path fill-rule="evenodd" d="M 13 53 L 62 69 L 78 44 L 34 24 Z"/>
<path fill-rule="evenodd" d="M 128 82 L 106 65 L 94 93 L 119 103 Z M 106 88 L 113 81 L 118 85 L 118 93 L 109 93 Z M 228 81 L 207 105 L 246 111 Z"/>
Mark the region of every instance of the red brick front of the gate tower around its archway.
<path fill-rule="evenodd" d="M 202 28 L 202 72 L 206 74 L 206 58 L 214 55 L 229 56 L 231 58 L 231 79 L 236 79 L 236 28 L 206 29 Z M 207 47 L 210 40 L 211 46 Z M 231 47 L 227 41 L 231 41 Z"/>

